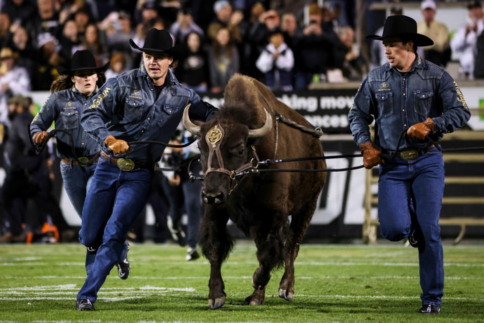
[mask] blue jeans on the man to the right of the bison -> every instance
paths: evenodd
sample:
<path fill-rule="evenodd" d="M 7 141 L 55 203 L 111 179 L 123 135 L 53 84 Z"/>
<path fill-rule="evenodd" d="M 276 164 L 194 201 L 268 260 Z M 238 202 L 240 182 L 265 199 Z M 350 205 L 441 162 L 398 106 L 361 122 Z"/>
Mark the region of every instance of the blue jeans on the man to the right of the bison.
<path fill-rule="evenodd" d="M 378 217 L 383 237 L 399 241 L 419 231 L 422 304 L 441 306 L 444 295 L 444 255 L 439 215 L 444 195 L 444 159 L 433 148 L 415 160 L 386 160 L 380 166 Z M 420 242 L 420 241 L 419 241 Z"/>

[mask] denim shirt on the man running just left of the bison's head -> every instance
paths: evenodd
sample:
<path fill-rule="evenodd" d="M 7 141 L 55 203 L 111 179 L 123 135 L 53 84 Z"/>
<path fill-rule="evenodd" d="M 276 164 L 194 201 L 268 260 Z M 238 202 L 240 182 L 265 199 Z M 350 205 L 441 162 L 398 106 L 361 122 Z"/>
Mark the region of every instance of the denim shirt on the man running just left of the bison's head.
<path fill-rule="evenodd" d="M 217 110 L 207 109 L 200 96 L 180 84 L 171 71 L 167 73 L 165 85 L 156 98 L 153 82 L 141 63 L 139 69 L 104 83 L 89 100 L 89 109 L 82 113 L 81 124 L 107 153 L 104 139 L 109 135 L 127 141 L 128 145 L 144 140 L 168 143 L 189 103 L 191 119 L 206 121 Z M 135 144 L 130 145 L 126 157 L 151 164 L 161 158 L 164 150 L 163 145 Z"/>

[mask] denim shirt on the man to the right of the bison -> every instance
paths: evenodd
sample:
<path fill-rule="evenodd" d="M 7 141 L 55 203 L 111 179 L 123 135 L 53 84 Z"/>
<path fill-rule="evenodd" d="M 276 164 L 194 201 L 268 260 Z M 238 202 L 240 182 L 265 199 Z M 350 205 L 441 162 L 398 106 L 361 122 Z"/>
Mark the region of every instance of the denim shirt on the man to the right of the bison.
<path fill-rule="evenodd" d="M 432 118 L 435 128 L 429 135 L 440 140 L 466 124 L 470 112 L 457 83 L 441 67 L 417 55 L 410 71 L 400 73 L 382 65 L 361 83 L 348 114 L 351 133 L 359 146 L 370 141 L 368 125 L 375 120 L 375 144 L 388 150 L 423 148 L 426 141 L 402 139 L 412 125 Z M 397 147 L 398 144 L 398 147 Z"/>

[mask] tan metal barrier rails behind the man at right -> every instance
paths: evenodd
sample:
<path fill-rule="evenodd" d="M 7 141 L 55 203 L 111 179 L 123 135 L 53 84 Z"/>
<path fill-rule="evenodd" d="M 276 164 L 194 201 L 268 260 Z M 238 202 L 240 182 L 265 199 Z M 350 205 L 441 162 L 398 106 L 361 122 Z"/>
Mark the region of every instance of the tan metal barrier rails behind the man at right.
<path fill-rule="evenodd" d="M 484 141 L 484 131 L 459 130 L 444 136 L 443 142 L 448 140 L 473 140 Z M 444 163 L 472 163 L 476 166 L 484 164 L 484 153 L 444 153 Z M 479 165 L 480 163 L 480 165 Z M 374 244 L 377 242 L 378 219 L 371 218 L 371 209 L 378 205 L 378 196 L 371 189 L 372 185 L 378 184 L 378 176 L 373 175 L 373 170 L 366 170 L 365 176 L 365 217 L 363 223 L 363 243 Z M 484 184 L 484 176 L 453 176 L 446 174 L 445 184 Z M 483 204 L 483 196 L 446 196 L 442 204 Z M 439 220 L 441 226 L 460 226 L 459 235 L 455 238 L 454 244 L 458 244 L 465 234 L 466 226 L 484 226 L 484 214 L 482 217 L 445 217 Z"/>

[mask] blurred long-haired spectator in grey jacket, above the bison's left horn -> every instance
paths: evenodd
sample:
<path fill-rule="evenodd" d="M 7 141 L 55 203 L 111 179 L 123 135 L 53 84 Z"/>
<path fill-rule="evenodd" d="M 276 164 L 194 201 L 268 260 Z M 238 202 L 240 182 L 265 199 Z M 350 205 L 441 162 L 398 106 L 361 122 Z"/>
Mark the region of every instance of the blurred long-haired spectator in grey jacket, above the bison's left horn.
<path fill-rule="evenodd" d="M 232 75 L 239 72 L 239 53 L 232 43 L 228 28 L 221 27 L 208 48 L 210 91 L 220 93 Z"/>

